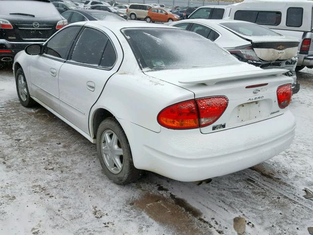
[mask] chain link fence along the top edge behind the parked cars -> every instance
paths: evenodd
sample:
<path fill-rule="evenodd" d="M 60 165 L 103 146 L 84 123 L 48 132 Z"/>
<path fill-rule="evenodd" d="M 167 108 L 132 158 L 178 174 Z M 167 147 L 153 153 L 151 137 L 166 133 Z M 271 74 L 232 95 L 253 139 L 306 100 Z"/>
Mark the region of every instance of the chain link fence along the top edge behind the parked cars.
<path fill-rule="evenodd" d="M 171 8 L 174 6 L 190 6 L 199 7 L 205 5 L 229 5 L 235 1 L 208 1 L 208 0 L 118 0 L 120 3 L 157 3 L 164 4 L 166 7 Z"/>

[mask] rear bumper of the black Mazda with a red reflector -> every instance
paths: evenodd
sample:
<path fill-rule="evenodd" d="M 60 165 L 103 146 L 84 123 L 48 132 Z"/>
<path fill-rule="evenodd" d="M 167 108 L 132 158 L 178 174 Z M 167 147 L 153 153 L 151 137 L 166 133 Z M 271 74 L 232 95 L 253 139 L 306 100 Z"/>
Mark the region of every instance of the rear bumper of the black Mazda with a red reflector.
<path fill-rule="evenodd" d="M 10 62 L 13 61 L 14 56 L 20 52 L 21 50 L 25 49 L 26 46 L 30 44 L 43 44 L 44 42 L 8 42 L 4 39 L 0 39 L 0 62 Z M 6 60 L 4 58 L 11 58 L 11 60 Z"/>

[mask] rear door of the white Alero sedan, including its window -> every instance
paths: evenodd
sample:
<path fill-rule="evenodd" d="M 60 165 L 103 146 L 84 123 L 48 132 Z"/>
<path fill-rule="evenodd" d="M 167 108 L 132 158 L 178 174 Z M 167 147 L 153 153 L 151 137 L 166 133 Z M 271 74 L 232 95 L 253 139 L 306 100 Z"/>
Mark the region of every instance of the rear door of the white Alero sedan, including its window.
<path fill-rule="evenodd" d="M 61 114 L 89 134 L 89 111 L 108 79 L 118 70 L 123 52 L 110 31 L 85 27 L 59 73 Z"/>

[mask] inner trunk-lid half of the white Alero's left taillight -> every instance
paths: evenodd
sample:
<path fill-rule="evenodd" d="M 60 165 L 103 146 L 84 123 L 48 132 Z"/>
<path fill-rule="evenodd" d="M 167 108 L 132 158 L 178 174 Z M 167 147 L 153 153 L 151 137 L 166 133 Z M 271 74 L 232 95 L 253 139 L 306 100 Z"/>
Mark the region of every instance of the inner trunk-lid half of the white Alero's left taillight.
<path fill-rule="evenodd" d="M 196 99 L 200 115 L 200 127 L 211 125 L 224 113 L 228 99 L 225 96 L 214 96 Z"/>

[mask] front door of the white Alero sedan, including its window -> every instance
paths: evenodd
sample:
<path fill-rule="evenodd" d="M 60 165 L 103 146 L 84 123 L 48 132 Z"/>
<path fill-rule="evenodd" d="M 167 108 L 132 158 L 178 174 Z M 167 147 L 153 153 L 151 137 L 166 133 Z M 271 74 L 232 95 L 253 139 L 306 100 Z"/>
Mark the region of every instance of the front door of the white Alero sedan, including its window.
<path fill-rule="evenodd" d="M 59 71 L 80 28 L 69 26 L 60 30 L 45 43 L 43 54 L 37 55 L 29 66 L 35 96 L 55 111 L 59 110 Z"/>

